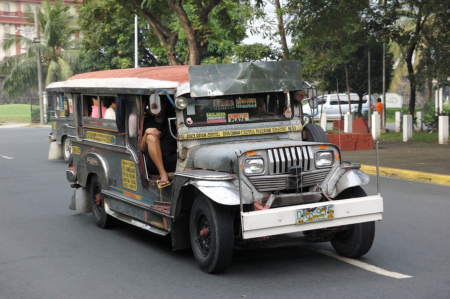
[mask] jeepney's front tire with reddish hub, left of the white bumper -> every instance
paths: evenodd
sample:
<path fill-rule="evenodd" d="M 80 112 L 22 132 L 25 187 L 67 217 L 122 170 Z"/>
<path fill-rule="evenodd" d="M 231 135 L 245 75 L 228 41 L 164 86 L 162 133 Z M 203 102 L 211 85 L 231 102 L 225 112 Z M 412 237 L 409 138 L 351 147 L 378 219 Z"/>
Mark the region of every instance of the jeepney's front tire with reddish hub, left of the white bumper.
<path fill-rule="evenodd" d="M 203 271 L 216 273 L 228 267 L 234 248 L 228 209 L 205 196 L 198 197 L 192 205 L 189 232 L 192 251 Z"/>

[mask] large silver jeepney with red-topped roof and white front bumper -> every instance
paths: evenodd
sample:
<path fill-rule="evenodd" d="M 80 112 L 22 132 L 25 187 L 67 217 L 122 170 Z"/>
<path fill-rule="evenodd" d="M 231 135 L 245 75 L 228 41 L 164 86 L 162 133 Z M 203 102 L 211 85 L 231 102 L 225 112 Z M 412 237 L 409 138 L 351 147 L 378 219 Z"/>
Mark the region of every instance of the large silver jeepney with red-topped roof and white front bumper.
<path fill-rule="evenodd" d="M 101 228 L 117 219 L 192 247 L 205 272 L 235 248 L 330 241 L 346 257 L 372 246 L 379 192 L 342 161 L 323 130 L 302 125 L 317 105 L 299 61 L 165 66 L 79 74 L 61 85 L 73 103 L 71 208 Z M 116 120 L 90 116 L 90 99 L 116 99 Z M 146 110 L 166 101 L 178 162 L 158 188 L 139 148 Z"/>

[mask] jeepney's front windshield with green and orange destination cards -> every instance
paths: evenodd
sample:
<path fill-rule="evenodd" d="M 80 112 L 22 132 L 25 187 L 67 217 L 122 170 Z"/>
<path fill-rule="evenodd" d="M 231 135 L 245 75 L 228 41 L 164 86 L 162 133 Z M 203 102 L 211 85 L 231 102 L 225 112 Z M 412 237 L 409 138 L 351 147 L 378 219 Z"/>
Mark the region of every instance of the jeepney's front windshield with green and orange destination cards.
<path fill-rule="evenodd" d="M 273 121 L 291 117 L 286 103 L 283 92 L 189 98 L 184 113 L 188 126 Z"/>

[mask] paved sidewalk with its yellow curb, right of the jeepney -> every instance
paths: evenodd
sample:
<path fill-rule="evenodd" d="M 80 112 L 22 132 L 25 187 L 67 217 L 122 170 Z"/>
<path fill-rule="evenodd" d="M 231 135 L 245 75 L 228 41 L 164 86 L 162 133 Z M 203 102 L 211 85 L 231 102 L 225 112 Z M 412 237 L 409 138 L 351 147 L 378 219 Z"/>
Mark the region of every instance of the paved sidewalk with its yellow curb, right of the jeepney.
<path fill-rule="evenodd" d="M 376 174 L 375 149 L 343 151 L 342 160 L 361 164 L 361 170 Z M 380 141 L 379 174 L 388 177 L 450 185 L 450 145 Z"/>

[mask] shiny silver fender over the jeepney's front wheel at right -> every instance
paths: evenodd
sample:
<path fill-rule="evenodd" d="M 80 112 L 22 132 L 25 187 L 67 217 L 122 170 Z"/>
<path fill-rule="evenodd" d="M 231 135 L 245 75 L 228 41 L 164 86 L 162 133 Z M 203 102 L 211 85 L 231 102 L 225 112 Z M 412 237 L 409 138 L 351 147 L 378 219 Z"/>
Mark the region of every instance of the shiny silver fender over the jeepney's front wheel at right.
<path fill-rule="evenodd" d="M 342 163 L 336 168 L 327 182 L 327 195 L 333 198 L 349 187 L 367 185 L 370 178 L 359 167 L 356 163 Z"/>

